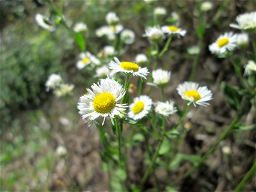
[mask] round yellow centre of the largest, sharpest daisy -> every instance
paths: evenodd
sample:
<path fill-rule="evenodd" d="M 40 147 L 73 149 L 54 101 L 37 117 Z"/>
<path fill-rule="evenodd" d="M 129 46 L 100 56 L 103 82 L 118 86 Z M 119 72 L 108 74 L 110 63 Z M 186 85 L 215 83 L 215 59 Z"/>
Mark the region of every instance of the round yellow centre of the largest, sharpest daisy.
<path fill-rule="evenodd" d="M 100 93 L 93 100 L 93 108 L 97 113 L 109 113 L 116 104 L 116 99 L 111 93 Z"/>

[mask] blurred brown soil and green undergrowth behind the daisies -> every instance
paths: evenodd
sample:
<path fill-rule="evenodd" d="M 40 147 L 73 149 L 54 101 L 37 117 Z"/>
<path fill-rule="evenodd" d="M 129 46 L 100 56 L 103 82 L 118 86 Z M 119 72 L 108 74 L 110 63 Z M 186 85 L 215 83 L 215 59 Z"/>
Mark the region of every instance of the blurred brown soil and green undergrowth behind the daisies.
<path fill-rule="evenodd" d="M 60 6 L 60 1 L 53 2 Z M 209 52 L 208 46 L 225 31 L 234 31 L 229 24 L 235 22 L 237 15 L 256 9 L 253 0 L 226 0 L 224 5 L 223 1 L 211 2 L 212 10 L 205 12 L 207 20 L 214 17 L 220 5 L 223 12 L 220 19 L 205 29 L 195 80 L 212 90 L 214 100 L 209 108 L 194 108 L 193 115 L 186 122 L 188 134 L 179 148 L 182 153 L 195 154 L 199 148 L 209 148 L 223 127 L 232 121 L 234 111 L 225 102 L 220 83 L 239 83 L 230 61 L 216 58 Z M 87 24 L 88 51 L 98 55 L 102 47 L 108 44 L 95 35 L 95 30 L 106 25 L 106 13 L 116 12 L 123 26 L 136 34 L 134 44 L 122 55 L 123 60 L 132 61 L 136 54 L 147 52 L 149 42 L 142 35 L 145 27 L 150 25 L 152 10 L 156 6 L 163 6 L 167 10 L 163 21 L 172 12 L 177 12 L 180 26 L 188 31 L 184 38 L 173 40 L 172 48 L 161 59 L 162 67 L 172 70 L 166 98 L 182 104 L 175 89 L 177 84 L 188 81 L 194 59 L 188 48 L 198 42 L 196 1 L 159 0 L 148 4 L 145 1 L 70 0 L 64 1 L 63 13 L 70 26 L 76 22 Z M 40 28 L 35 21 L 36 13 L 49 14 L 44 1 L 0 1 L 1 191 L 109 191 L 109 175 L 99 153 L 102 150 L 99 133 L 87 129 L 74 106 L 85 89 L 97 82 L 97 78 L 86 70 L 76 68 L 80 51 L 67 29 L 59 26 L 51 33 Z M 247 49 L 252 50 L 252 47 L 249 45 Z M 242 60 L 241 65 L 246 62 Z M 72 100 L 67 101 L 46 92 L 45 82 L 52 73 L 61 74 L 67 83 L 75 85 Z M 157 93 L 152 97 L 157 99 Z M 248 111 L 243 122 L 255 124 L 252 116 L 252 112 Z M 131 150 L 134 150 L 130 159 L 134 166 L 131 180 L 138 183 L 143 174 L 138 168 L 143 161 L 143 148 Z M 250 169 L 253 159 L 255 130 L 234 131 L 209 159 L 211 166 L 204 164 L 177 189 L 230 191 Z M 190 163 L 179 163 L 179 168 L 173 168 L 172 175 L 166 175 L 164 168 L 160 167 L 157 177 L 164 180 L 182 175 Z M 245 189 L 255 190 L 255 178 Z"/>

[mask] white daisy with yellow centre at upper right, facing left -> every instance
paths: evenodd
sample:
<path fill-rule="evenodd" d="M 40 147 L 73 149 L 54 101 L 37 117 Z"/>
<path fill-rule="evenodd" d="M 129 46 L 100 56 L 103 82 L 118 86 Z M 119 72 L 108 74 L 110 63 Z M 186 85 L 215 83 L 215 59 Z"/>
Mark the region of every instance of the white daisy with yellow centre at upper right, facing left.
<path fill-rule="evenodd" d="M 224 54 L 227 51 L 233 51 L 236 48 L 237 35 L 233 32 L 227 32 L 219 36 L 216 42 L 209 45 L 212 54 Z"/>

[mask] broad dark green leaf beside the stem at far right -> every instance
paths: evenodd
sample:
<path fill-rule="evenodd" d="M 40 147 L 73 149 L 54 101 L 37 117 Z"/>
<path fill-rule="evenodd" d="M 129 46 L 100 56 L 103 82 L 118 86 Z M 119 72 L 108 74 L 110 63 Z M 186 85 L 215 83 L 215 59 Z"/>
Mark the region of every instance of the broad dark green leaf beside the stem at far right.
<path fill-rule="evenodd" d="M 240 103 L 243 97 L 243 95 L 239 93 L 239 90 L 236 87 L 230 86 L 225 82 L 221 83 L 221 90 L 230 108 L 239 111 L 239 109 L 241 108 Z"/>

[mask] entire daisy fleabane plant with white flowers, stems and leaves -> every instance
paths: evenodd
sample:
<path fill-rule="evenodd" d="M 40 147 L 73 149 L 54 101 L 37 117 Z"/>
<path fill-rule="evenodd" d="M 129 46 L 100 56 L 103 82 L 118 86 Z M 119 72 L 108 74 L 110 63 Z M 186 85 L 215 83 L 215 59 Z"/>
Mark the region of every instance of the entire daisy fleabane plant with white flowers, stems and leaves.
<path fill-rule="evenodd" d="M 51 8 L 57 12 L 56 8 L 52 6 L 52 3 L 50 2 L 49 4 Z M 147 164 L 147 166 L 145 166 L 145 172 L 141 173 L 142 177 L 140 183 L 136 184 L 134 191 L 135 189 L 143 191 L 150 175 L 156 180 L 157 190 L 161 191 L 164 188 L 163 186 L 157 186 L 158 180 L 155 173 L 157 159 L 163 157 L 162 159 L 166 158 L 168 161 L 173 161 L 173 159 L 168 156 L 167 152 L 163 152 L 164 143 L 171 145 L 170 141 L 173 141 L 173 138 L 179 138 L 186 134 L 187 130 L 184 128 L 183 124 L 189 110 L 191 108 L 207 107 L 213 99 L 212 92 L 207 86 L 199 86 L 198 83 L 192 81 L 195 77 L 199 62 L 198 58 L 204 40 L 205 20 L 203 12 L 207 12 L 211 9 L 209 7 L 204 8 L 204 6 L 202 8 L 200 5 L 201 4 L 198 6 L 199 42 L 197 45 L 199 52 L 196 53 L 190 77 L 187 79 L 188 81 L 180 82 L 177 86 L 177 92 L 172 93 L 173 95 L 180 95 L 181 99 L 184 100 L 182 106 L 177 106 L 177 100 L 174 100 L 172 97 L 166 97 L 164 93 L 164 88 L 168 86 L 168 83 L 172 82 L 172 79 L 171 71 L 164 70 L 161 63 L 161 58 L 164 54 L 166 54 L 169 49 L 173 49 L 173 47 L 170 48 L 170 46 L 172 46 L 172 40 L 174 38 L 182 39 L 189 33 L 189 31 L 180 27 L 179 22 L 177 22 L 179 15 L 174 14 L 176 21 L 173 22 L 173 24 L 167 25 L 158 20 L 154 20 L 154 22 L 152 22 L 154 26 L 145 27 L 145 34 L 136 34 L 147 36 L 150 42 L 150 51 L 147 55 L 137 52 L 136 54 L 138 55 L 136 58 L 134 56 L 135 61 L 132 59 L 122 59 L 122 54 L 127 52 L 129 46 L 134 43 L 135 33 L 122 26 L 122 19 L 120 19 L 116 13 L 109 12 L 106 15 L 108 26 L 102 26 L 95 31 L 95 35 L 99 38 L 106 36 L 108 42 L 108 44 L 106 44 L 108 47 L 99 50 L 99 52 L 102 51 L 102 54 L 94 55 L 89 52 L 90 44 L 88 43 L 85 47 L 86 39 L 81 35 L 81 33 L 87 30 L 85 24 L 77 24 L 72 30 L 67 26 L 65 20 L 61 21 L 69 31 L 72 30 L 70 34 L 74 37 L 74 40 L 81 49 L 76 67 L 84 71 L 90 70 L 90 72 L 94 73 L 93 77 L 95 77 L 95 82 L 97 82 L 92 84 L 91 88 L 87 88 L 86 93 L 80 97 L 77 109 L 88 127 L 99 130 L 100 139 L 104 145 L 104 152 L 101 153 L 102 161 L 109 165 L 109 172 L 122 173 L 123 177 L 119 181 L 125 184 L 126 189 L 124 190 L 131 191 L 132 189 L 131 181 L 129 180 L 129 172 L 131 172 L 131 170 L 129 170 L 129 166 L 127 165 L 127 149 L 133 145 L 140 147 L 140 145 L 143 144 L 132 143 L 134 136 L 136 136 L 136 134 L 142 136 L 146 145 L 145 154 L 148 156 L 147 163 L 146 161 L 143 162 Z M 158 9 L 154 13 L 158 15 L 157 17 L 159 17 L 159 15 L 165 15 L 163 9 Z M 62 13 L 61 16 L 61 18 L 63 18 Z M 243 17 L 245 16 L 246 15 Z M 241 16 L 237 19 L 239 26 L 236 27 L 244 29 L 245 31 L 248 31 L 247 29 L 250 29 L 250 31 L 255 29 L 253 26 L 253 17 L 249 17 L 248 15 L 246 19 L 243 19 L 243 17 Z M 248 21 L 250 19 L 250 26 L 245 26 L 243 20 Z M 38 18 L 36 20 L 38 20 Z M 48 19 L 44 19 L 44 22 L 51 24 Z M 38 22 L 38 24 L 40 23 Z M 53 29 L 56 28 L 54 25 L 55 24 L 51 24 L 52 28 L 44 28 L 49 31 L 54 31 Z M 40 24 L 40 26 L 42 26 L 42 24 Z M 244 39 L 244 36 L 242 39 Z M 243 42 L 243 40 L 241 42 Z M 244 42 L 246 42 L 246 40 Z M 246 43 L 241 43 L 241 45 L 244 46 Z M 253 46 L 255 46 L 255 44 Z M 236 47 L 237 35 L 233 32 L 229 32 L 220 35 L 216 39 L 216 42 L 209 45 L 209 50 L 212 54 L 225 58 L 230 57 Z M 248 78 L 245 79 L 242 74 L 242 67 L 239 66 L 239 64 L 241 64 L 239 63 L 240 60 L 237 60 L 234 55 L 234 68 L 243 87 L 237 89 L 229 86 L 227 83 L 223 83 L 221 87 L 227 98 L 227 102 L 237 111 L 237 116 L 223 134 L 221 134 L 218 141 L 207 150 L 207 153 L 204 156 L 198 156 L 198 161 L 184 174 L 184 178 L 191 175 L 200 164 L 204 163 L 214 150 L 216 150 L 220 142 L 234 129 L 243 116 L 245 108 L 250 105 L 248 104 L 248 100 L 252 100 L 251 106 L 255 105 L 255 103 L 253 104 L 253 97 L 255 97 L 255 81 L 253 82 L 253 78 L 255 80 L 255 70 L 253 70 L 255 67 L 255 58 L 251 59 L 252 60 L 248 61 L 248 65 L 246 65 L 246 70 L 244 71 L 244 76 Z M 129 94 L 129 84 L 134 81 L 134 78 L 138 79 L 138 90 L 135 91 L 134 95 L 131 95 Z M 61 88 L 62 79 L 60 76 L 54 75 L 50 79 L 51 81 L 49 80 L 46 83 L 47 89 L 57 88 L 58 90 L 58 88 Z M 147 81 L 147 84 L 145 81 Z M 63 85 L 65 92 L 70 93 L 72 91 L 73 87 Z M 159 92 L 159 95 L 157 95 L 159 98 L 157 99 L 152 97 L 152 85 L 156 86 L 157 92 Z M 55 91 L 54 93 L 58 95 L 60 92 Z M 179 117 L 177 117 L 177 122 L 170 121 L 170 116 L 178 116 L 178 112 Z M 108 131 L 109 126 L 112 128 L 113 133 Z M 131 131 L 129 136 L 124 135 L 124 129 Z M 150 148 L 149 140 L 154 140 L 156 144 L 154 148 Z M 180 180 L 175 180 L 173 183 L 175 182 L 180 182 Z"/>

